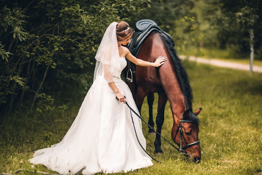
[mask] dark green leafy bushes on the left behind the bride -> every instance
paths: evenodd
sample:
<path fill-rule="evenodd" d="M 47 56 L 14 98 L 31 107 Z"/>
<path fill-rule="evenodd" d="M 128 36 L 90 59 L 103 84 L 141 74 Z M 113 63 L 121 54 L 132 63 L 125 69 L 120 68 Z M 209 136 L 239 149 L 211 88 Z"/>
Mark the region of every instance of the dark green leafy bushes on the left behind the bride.
<path fill-rule="evenodd" d="M 88 88 L 86 85 L 90 86 L 86 81 L 93 79 L 90 72 L 105 29 L 122 16 L 122 20 L 128 21 L 132 15 L 142 13 L 150 0 L 1 2 L 0 42 L 4 45 L 0 48 L 3 58 L 0 105 L 5 104 L 1 109 L 8 106 L 12 111 L 20 106 L 32 108 L 32 100 L 42 98 L 36 98 L 37 94 L 55 95 L 53 92 L 63 94 L 64 90 L 73 92 L 77 89 L 76 94 L 82 95 Z M 86 74 L 88 76 L 84 76 Z M 79 81 L 79 77 L 88 79 Z M 19 86 L 9 84 L 11 80 Z M 78 98 L 77 95 L 68 94 L 63 98 L 68 101 Z M 52 97 L 47 97 L 43 98 L 52 103 Z M 8 103 L 6 99 L 9 99 Z M 23 105 L 25 101 L 27 105 Z M 52 110 L 52 107 L 45 108 Z"/>

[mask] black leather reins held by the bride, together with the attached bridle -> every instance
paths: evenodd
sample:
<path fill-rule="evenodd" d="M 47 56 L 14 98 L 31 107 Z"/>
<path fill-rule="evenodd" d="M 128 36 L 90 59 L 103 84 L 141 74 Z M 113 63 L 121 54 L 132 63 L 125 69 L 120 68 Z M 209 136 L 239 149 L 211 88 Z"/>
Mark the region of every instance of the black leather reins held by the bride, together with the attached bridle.
<path fill-rule="evenodd" d="M 124 96 L 125 97 L 125 96 Z M 119 99 L 116 97 L 116 99 L 119 101 Z M 132 117 L 132 113 L 131 113 L 131 111 L 133 111 L 143 122 L 145 122 L 149 127 L 150 127 L 150 129 L 153 129 L 153 127 L 151 127 L 143 118 L 141 118 L 135 111 L 134 111 L 134 109 L 132 109 L 129 105 L 128 105 L 128 103 L 125 101 L 125 104 L 128 106 L 128 108 L 130 108 L 130 114 L 131 114 L 131 119 L 132 119 L 132 122 L 133 122 L 133 126 L 134 126 L 134 120 L 133 120 L 133 117 Z M 187 153 L 185 153 L 185 149 L 186 148 L 189 148 L 190 146 L 194 146 L 194 145 L 197 145 L 197 144 L 200 144 L 200 142 L 199 141 L 194 141 L 194 142 L 192 142 L 192 143 L 189 143 L 189 144 L 187 144 L 187 142 L 185 141 L 185 136 L 183 135 L 183 130 L 182 130 L 182 128 L 181 128 L 181 123 L 182 122 L 185 122 L 185 123 L 193 123 L 193 121 L 190 121 L 190 120 L 182 120 L 182 118 L 183 118 L 183 114 L 184 113 L 182 113 L 182 115 L 181 115 L 181 118 L 180 118 L 180 122 L 179 122 L 179 125 L 177 126 L 177 129 L 176 129 L 176 134 L 175 134 L 175 139 L 176 139 L 176 135 L 177 135 L 177 133 L 178 133 L 178 129 L 179 129 L 179 134 L 180 134 L 180 149 L 179 148 L 177 148 L 173 143 L 171 143 L 170 141 L 168 141 L 166 138 L 164 138 L 164 136 L 162 136 L 161 134 L 159 134 L 155 129 L 153 129 L 157 134 L 159 134 L 165 141 L 167 141 L 171 146 L 173 146 L 174 148 L 176 148 L 176 150 L 178 150 L 179 152 L 180 152 L 180 154 L 184 154 L 184 155 L 186 155 L 186 156 L 189 156 Z M 134 126 L 134 131 L 135 131 L 135 134 L 136 134 L 136 136 L 137 136 L 137 132 L 136 132 L 136 128 L 135 128 L 135 126 Z M 183 137 L 183 139 L 184 139 L 184 142 L 185 142 L 185 146 L 182 148 L 182 137 Z M 139 139 L 138 139 L 138 136 L 137 136 L 137 141 L 138 141 L 138 143 L 139 143 L 139 145 L 141 146 L 141 148 L 146 152 L 146 150 L 143 148 L 143 146 L 141 145 L 141 143 L 140 143 L 140 141 L 139 141 Z M 146 152 L 146 154 L 147 155 L 149 155 L 153 160 L 155 160 L 150 154 L 148 154 L 147 152 Z M 157 160 L 155 160 L 155 161 L 157 161 Z M 159 162 L 159 161 L 157 161 L 157 162 Z M 162 162 L 159 162 L 159 163 L 162 163 Z"/>

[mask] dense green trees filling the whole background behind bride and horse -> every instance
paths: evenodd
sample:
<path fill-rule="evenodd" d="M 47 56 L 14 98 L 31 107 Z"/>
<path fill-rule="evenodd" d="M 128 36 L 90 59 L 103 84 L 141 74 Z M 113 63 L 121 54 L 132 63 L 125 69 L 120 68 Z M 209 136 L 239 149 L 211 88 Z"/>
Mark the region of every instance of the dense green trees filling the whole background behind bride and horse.
<path fill-rule="evenodd" d="M 113 21 L 134 27 L 137 20 L 154 20 L 180 55 L 262 57 L 260 0 L 0 2 L 1 116 L 64 110 L 82 101 L 93 83 L 95 53 Z"/>

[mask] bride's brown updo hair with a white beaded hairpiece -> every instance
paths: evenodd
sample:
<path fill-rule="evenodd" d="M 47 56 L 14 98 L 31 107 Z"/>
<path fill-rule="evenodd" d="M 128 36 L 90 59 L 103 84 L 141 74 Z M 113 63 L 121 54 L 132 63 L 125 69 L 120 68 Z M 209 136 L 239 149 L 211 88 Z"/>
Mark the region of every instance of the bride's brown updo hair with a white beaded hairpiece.
<path fill-rule="evenodd" d="M 128 27 L 129 27 L 129 24 L 126 23 L 125 21 L 119 21 L 116 24 L 116 38 L 117 38 L 117 42 L 126 40 L 127 38 L 132 36 L 134 31 L 133 31 L 133 29 L 131 27 L 129 27 L 129 28 Z M 126 30 L 126 31 L 123 31 L 123 30 Z"/>

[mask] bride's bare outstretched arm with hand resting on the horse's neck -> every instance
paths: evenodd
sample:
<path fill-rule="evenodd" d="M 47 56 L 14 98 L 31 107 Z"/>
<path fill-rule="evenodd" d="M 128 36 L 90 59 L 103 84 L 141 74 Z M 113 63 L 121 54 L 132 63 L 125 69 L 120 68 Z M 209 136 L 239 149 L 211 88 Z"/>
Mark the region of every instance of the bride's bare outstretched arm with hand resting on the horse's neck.
<path fill-rule="evenodd" d="M 141 59 L 137 59 L 134 55 L 132 55 L 130 53 L 130 51 L 128 50 L 128 48 L 125 49 L 127 51 L 127 54 L 125 55 L 125 57 L 131 61 L 132 63 L 134 63 L 135 65 L 138 65 L 138 66 L 152 66 L 152 67 L 159 67 L 161 66 L 162 64 L 164 64 L 164 61 L 167 60 L 166 57 L 158 57 L 154 63 L 151 63 L 151 62 L 147 62 L 147 61 L 144 61 L 144 60 L 141 60 Z"/>

